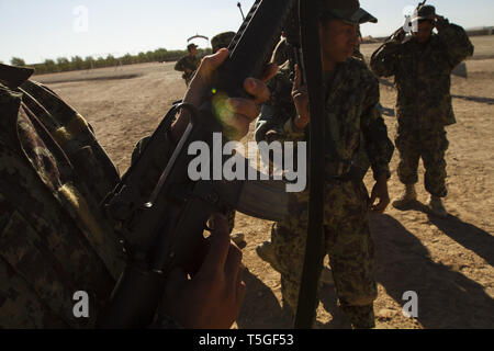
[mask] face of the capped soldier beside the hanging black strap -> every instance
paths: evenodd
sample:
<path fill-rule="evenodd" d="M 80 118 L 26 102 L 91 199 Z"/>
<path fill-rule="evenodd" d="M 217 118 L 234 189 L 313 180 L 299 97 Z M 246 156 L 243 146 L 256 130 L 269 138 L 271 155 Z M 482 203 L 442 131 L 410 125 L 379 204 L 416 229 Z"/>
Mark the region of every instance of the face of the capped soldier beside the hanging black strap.
<path fill-rule="evenodd" d="M 359 26 L 332 20 L 319 24 L 319 37 L 323 60 L 344 63 L 358 45 Z"/>

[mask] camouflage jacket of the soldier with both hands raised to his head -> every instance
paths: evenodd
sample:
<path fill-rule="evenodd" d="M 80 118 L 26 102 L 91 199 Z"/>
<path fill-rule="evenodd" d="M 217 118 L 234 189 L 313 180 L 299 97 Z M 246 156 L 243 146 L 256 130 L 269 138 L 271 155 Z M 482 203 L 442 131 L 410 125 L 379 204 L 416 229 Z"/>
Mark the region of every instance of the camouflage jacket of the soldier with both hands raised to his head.
<path fill-rule="evenodd" d="M 408 37 L 402 44 L 388 42 L 372 55 L 371 69 L 377 76 L 395 77 L 401 128 L 436 129 L 456 123 L 450 75 L 471 55 L 473 45 L 465 31 L 447 21 L 425 45 Z"/>

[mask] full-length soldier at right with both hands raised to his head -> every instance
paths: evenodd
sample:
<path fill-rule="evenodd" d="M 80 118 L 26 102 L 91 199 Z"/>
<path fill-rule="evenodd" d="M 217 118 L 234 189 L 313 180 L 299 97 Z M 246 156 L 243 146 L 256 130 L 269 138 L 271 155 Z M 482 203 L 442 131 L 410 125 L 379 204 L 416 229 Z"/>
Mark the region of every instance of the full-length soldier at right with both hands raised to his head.
<path fill-rule="evenodd" d="M 447 195 L 445 126 L 456 123 L 450 73 L 473 54 L 473 45 L 462 27 L 436 15 L 431 5 L 417 9 L 413 21 L 418 32 L 405 36 L 403 30 L 397 31 L 371 59 L 374 73 L 394 76 L 397 88 L 397 174 L 405 191 L 393 205 L 404 208 L 416 200 L 415 183 L 422 157 L 426 170 L 425 189 L 431 195 L 430 210 L 446 217 L 448 213 L 441 201 Z M 434 27 L 438 34 L 433 33 Z"/>

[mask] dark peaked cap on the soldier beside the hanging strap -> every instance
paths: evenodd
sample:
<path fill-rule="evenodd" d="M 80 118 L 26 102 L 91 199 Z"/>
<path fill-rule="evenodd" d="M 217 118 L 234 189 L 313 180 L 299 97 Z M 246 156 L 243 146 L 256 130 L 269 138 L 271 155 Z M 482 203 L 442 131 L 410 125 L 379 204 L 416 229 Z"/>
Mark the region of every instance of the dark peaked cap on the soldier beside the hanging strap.
<path fill-rule="evenodd" d="M 378 19 L 360 8 L 358 0 L 319 0 L 319 13 L 350 24 L 378 23 Z"/>

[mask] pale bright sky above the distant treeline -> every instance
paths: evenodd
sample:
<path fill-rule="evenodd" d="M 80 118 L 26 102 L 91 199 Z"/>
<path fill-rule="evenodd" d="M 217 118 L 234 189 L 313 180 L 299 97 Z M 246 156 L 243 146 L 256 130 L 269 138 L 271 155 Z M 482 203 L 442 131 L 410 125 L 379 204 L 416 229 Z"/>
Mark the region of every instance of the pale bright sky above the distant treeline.
<path fill-rule="evenodd" d="M 254 0 L 243 0 L 248 12 Z M 126 53 L 184 48 L 199 33 L 209 37 L 237 31 L 237 0 L 0 0 L 0 60 L 26 63 L 71 56 L 122 56 Z M 379 18 L 363 35 L 384 36 L 403 24 L 411 0 L 361 0 Z M 436 0 L 440 14 L 465 27 L 494 25 L 493 0 Z M 87 11 L 87 12 L 86 12 Z M 87 15 L 86 15 L 87 13 Z M 201 47 L 205 41 L 195 42 Z"/>

